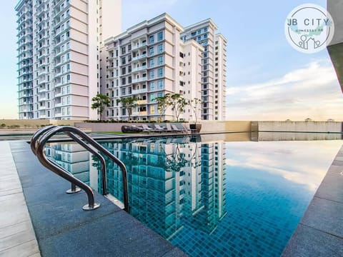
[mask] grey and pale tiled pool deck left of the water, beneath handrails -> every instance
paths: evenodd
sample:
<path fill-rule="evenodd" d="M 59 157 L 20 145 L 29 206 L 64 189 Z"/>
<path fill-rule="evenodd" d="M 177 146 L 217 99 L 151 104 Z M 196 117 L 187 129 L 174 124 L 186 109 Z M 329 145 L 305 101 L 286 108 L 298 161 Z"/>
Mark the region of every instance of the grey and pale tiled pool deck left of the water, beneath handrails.
<path fill-rule="evenodd" d="M 99 193 L 100 208 L 83 211 L 86 194 L 67 195 L 25 141 L 0 153 L 0 256 L 187 256 Z"/>

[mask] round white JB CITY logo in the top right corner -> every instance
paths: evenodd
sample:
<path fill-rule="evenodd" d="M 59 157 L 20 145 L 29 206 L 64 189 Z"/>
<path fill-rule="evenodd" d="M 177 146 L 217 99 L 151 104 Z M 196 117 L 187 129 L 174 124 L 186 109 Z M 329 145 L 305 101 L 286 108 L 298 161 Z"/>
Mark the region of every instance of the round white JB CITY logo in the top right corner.
<path fill-rule="evenodd" d="M 284 32 L 289 44 L 302 53 L 325 49 L 334 36 L 334 21 L 326 9 L 315 4 L 302 4 L 287 16 Z"/>

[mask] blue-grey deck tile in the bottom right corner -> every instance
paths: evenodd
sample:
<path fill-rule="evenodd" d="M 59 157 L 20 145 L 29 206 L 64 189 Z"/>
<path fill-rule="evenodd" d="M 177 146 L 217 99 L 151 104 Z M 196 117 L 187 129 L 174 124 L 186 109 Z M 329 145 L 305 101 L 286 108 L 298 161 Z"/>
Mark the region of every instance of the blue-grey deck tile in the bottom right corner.
<path fill-rule="evenodd" d="M 299 224 L 282 256 L 342 257 L 342 238 Z"/>

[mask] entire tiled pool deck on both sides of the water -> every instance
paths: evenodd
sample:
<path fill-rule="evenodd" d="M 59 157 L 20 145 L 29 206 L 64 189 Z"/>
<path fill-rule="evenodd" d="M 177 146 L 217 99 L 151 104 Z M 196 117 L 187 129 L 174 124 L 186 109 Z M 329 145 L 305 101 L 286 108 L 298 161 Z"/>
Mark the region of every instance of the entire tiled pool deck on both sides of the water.
<path fill-rule="evenodd" d="M 85 193 L 66 195 L 25 141 L 0 153 L 0 256 L 187 256 L 98 193 L 82 211 Z M 282 256 L 343 256 L 343 146 Z"/>

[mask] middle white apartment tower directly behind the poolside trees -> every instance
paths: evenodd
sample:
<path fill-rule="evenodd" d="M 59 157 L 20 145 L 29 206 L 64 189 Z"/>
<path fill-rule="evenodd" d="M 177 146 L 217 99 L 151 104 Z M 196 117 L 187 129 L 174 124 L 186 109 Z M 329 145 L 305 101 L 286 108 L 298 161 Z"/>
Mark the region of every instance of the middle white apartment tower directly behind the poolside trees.
<path fill-rule="evenodd" d="M 175 119 L 171 109 L 164 116 L 159 114 L 159 96 L 177 93 L 185 99 L 200 99 L 204 48 L 196 41 L 182 41 L 182 31 L 171 16 L 161 14 L 105 40 L 101 93 L 111 99 L 105 119 L 129 119 L 127 110 L 117 102 L 126 97 L 139 99 L 130 118 L 149 121 Z M 180 118 L 188 121 L 192 115 L 188 106 Z"/>

